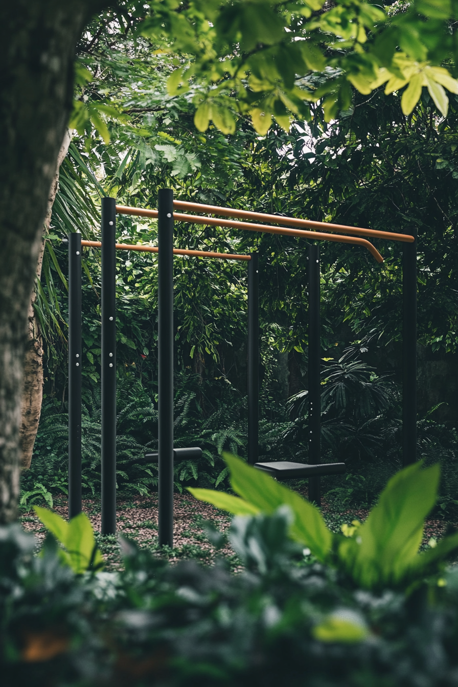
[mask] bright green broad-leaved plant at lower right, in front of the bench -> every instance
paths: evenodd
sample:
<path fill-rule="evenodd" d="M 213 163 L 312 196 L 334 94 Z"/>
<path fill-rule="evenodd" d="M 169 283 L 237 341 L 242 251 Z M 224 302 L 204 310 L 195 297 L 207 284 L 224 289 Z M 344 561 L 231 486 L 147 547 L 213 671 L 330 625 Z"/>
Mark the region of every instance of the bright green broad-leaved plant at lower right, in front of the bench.
<path fill-rule="evenodd" d="M 419 553 L 424 521 L 437 498 L 439 466 L 411 465 L 391 478 L 367 520 L 347 536 L 332 534 L 319 510 L 273 477 L 226 455 L 231 486 L 242 499 L 190 489 L 198 499 L 247 515 L 249 506 L 273 513 L 288 506 L 293 520 L 289 534 L 308 546 L 317 559 L 336 565 L 354 584 L 367 589 L 408 587 L 425 575 L 438 574 L 446 556 L 458 548 L 458 533 L 446 537 L 432 551 Z M 349 536 L 350 534 L 350 536 Z"/>

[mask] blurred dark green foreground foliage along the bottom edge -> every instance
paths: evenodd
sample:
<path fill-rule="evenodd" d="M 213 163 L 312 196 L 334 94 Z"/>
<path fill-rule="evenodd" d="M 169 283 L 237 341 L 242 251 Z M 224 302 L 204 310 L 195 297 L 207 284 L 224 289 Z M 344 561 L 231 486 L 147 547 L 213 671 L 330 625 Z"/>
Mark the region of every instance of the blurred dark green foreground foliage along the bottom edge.
<path fill-rule="evenodd" d="M 34 537 L 1 527 L 3 681 L 299 687 L 306 666 L 312 685 L 454 684 L 456 570 L 407 594 L 349 587 L 288 537 L 292 520 L 288 506 L 234 518 L 237 575 L 223 561 L 169 566 L 124 540 L 124 568 L 80 574 L 53 540 L 33 556 Z"/>

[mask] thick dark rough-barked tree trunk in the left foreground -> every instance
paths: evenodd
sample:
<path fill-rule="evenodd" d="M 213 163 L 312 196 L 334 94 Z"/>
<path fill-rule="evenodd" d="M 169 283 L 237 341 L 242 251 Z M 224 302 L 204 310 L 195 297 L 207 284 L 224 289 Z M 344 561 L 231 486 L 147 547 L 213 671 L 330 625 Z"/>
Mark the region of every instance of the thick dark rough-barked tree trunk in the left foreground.
<path fill-rule="evenodd" d="M 0 22 L 0 523 L 16 517 L 30 293 L 73 95 L 76 43 L 102 0 L 16 0 Z"/>

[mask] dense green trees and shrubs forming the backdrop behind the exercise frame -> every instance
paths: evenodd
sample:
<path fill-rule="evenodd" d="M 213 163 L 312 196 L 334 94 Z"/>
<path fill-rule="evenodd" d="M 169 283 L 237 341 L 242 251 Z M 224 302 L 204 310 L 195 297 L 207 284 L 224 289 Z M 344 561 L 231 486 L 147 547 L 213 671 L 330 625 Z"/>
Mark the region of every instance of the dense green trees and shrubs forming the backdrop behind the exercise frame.
<path fill-rule="evenodd" d="M 352 6 L 356 8 L 356 5 Z M 247 12 L 254 12 L 253 7 L 250 5 Z M 264 3 L 256 5 L 254 9 L 260 12 L 262 7 Z M 306 5 L 301 7 L 304 9 Z M 79 227 L 84 238 L 100 238 L 100 194 L 114 195 L 120 203 L 154 207 L 157 189 L 168 185 L 183 199 L 380 229 L 387 229 L 388 224 L 398 232 L 410 233 L 416 227 L 420 246 L 420 341 L 424 346 L 435 348 L 437 354 L 455 348 L 456 337 L 453 333 L 457 331 L 456 308 L 450 295 L 453 295 L 456 286 L 456 271 L 451 257 L 455 254 L 453 227 L 457 206 L 453 183 L 456 166 L 453 147 L 455 96 L 450 95 L 448 117 L 442 120 L 426 89 L 417 109 L 409 118 L 402 113 L 402 89 L 385 95 L 380 88 L 370 98 L 350 91 L 350 108 L 340 111 L 332 124 L 325 123 L 320 105 L 306 101 L 302 104 L 310 108 L 312 121 L 309 124 L 304 122 L 302 115 L 297 115 L 289 133 L 282 126 L 273 124 L 265 137 L 259 137 L 251 130 L 243 114 L 243 106 L 237 112 L 238 96 L 234 97 L 233 92 L 229 96 L 230 102 L 210 102 L 214 95 L 216 97 L 218 88 L 229 88 L 231 78 L 238 78 L 237 75 L 226 75 L 221 82 L 218 80 L 220 74 L 216 74 L 214 83 L 217 89 L 211 91 L 211 97 L 205 91 L 205 80 L 205 83 L 199 80 L 201 76 L 197 71 L 196 78 L 192 78 L 186 92 L 179 88 L 178 81 L 174 85 L 169 81 L 171 75 L 177 78 L 178 71 L 174 71 L 176 67 L 181 69 L 183 76 L 189 65 L 198 63 L 199 58 L 192 62 L 194 58 L 190 57 L 195 54 L 196 45 L 205 51 L 209 45 L 213 45 L 211 41 L 216 36 L 212 27 L 205 28 L 208 19 L 206 13 L 210 12 L 210 8 L 203 8 L 203 14 L 196 21 L 191 19 L 194 16 L 193 8 L 191 4 L 187 14 L 176 12 L 173 3 L 161 3 L 160 10 L 153 8 L 153 12 L 159 14 L 154 14 L 156 19 L 152 16 L 151 21 L 153 24 L 156 22 L 154 25 L 159 30 L 157 21 L 161 16 L 164 26 L 159 32 L 165 30 L 163 38 L 167 45 L 156 34 L 153 38 L 139 36 L 138 32 L 134 36 L 135 30 L 143 30 L 146 26 L 142 21 L 144 8 L 137 6 L 137 3 L 128 3 L 124 8 L 124 19 L 112 10 L 103 15 L 102 24 L 99 18 L 95 18 L 79 46 L 78 64 L 89 70 L 93 79 L 89 81 L 83 78 L 84 74 L 80 75 L 78 98 L 81 102 L 84 100 L 88 107 L 100 103 L 102 108 L 112 106 L 122 112 L 123 117 L 115 117 L 113 112 L 111 116 L 108 110 L 107 114 L 102 113 L 101 117 L 106 117 L 106 126 L 111 135 L 108 146 L 100 142 L 88 124 L 84 133 L 74 139 L 69 158 L 62 167 L 60 192 L 48 241 L 55 260 L 47 247 L 40 286 L 41 300 L 37 304 L 46 339 L 47 398 L 40 430 L 45 436 L 43 440 L 40 436 L 37 440 L 36 466 L 32 467 L 31 473 L 23 475 L 23 490 L 38 490 L 38 493 L 29 497 L 29 501 L 43 499 L 38 484 L 43 484 L 52 495 L 65 489 L 67 255 L 60 237 Z M 231 32 L 236 31 L 233 27 L 238 26 L 238 12 L 245 16 L 245 9 L 236 3 L 231 10 L 233 25 L 218 25 L 216 28 L 217 33 L 222 32 L 227 36 L 225 41 L 234 35 Z M 220 10 L 222 8 L 214 8 L 216 14 Z M 229 11 L 228 8 L 226 10 Z M 334 29 L 343 30 L 347 10 L 341 5 L 336 10 L 339 11 L 319 14 L 319 20 L 314 14 L 310 16 L 310 21 L 331 21 L 335 24 Z M 278 11 L 282 21 L 286 21 L 286 14 L 282 14 L 284 8 Z M 364 12 L 365 9 L 358 11 Z M 339 21 L 336 19 L 338 15 L 341 17 Z M 392 34 L 392 27 L 396 27 L 400 21 L 406 21 L 406 16 L 401 12 L 392 21 L 390 19 L 391 23 L 385 23 L 385 28 L 389 28 L 387 36 Z M 305 19 L 307 24 L 308 16 Z M 188 25 L 189 21 L 194 23 Z M 298 32 L 308 31 L 306 24 L 301 25 L 302 20 L 298 21 L 293 36 L 296 38 Z M 351 25 L 353 20 L 348 21 Z M 353 24 L 356 25 L 354 21 Z M 166 34 L 172 25 L 181 26 L 183 41 L 188 41 L 189 45 L 194 43 L 187 56 L 170 52 L 170 41 Z M 246 30 L 243 28 L 246 27 L 244 20 L 240 26 L 237 31 L 241 39 Z M 376 27 L 376 32 L 379 28 L 381 30 L 381 25 Z M 423 29 L 420 26 L 417 35 L 422 34 Z M 199 33 L 201 30 L 204 34 Z M 205 33 L 207 30 L 210 31 L 208 35 Z M 348 25 L 345 30 L 348 30 Z M 196 42 L 194 38 L 191 40 L 191 35 L 194 38 L 197 35 L 201 38 L 204 36 L 204 42 Z M 360 44 L 364 50 L 372 50 L 375 35 L 371 32 L 367 34 L 368 40 L 364 45 Z M 399 32 L 396 35 L 399 38 Z M 178 40 L 181 41 L 181 38 Z M 282 35 L 279 43 L 285 40 Z M 286 42 L 289 40 L 287 38 Z M 308 76 L 303 84 L 297 82 L 295 88 L 303 91 L 328 88 L 331 72 L 328 69 L 323 76 L 320 71 L 325 65 L 323 44 L 320 43 L 315 50 L 314 39 L 311 38 L 295 41 L 295 49 L 299 44 L 301 59 L 314 70 L 314 74 Z M 428 45 L 432 46 L 433 43 Z M 217 47 L 223 52 L 227 49 L 222 43 Z M 292 44 L 290 47 L 293 49 Z M 284 53 L 284 74 L 289 69 L 287 52 L 290 47 Z M 340 43 L 339 50 L 342 47 L 345 46 Z M 262 70 L 273 68 L 269 57 L 271 49 L 275 52 L 277 47 L 271 43 L 256 45 L 251 55 L 240 52 L 234 55 L 235 60 L 253 57 L 255 67 L 249 74 L 249 89 L 255 87 L 254 74 L 262 79 L 270 78 L 268 74 L 263 76 Z M 348 48 L 350 52 L 351 49 Z M 404 45 L 402 50 L 409 52 Z M 328 50 L 325 60 L 331 53 L 335 56 L 333 51 L 334 48 Z M 345 59 L 350 52 L 347 52 Z M 268 58 L 267 67 L 262 65 L 264 58 Z M 281 60 L 275 64 L 279 69 L 283 68 L 279 66 L 283 65 Z M 300 64 L 301 61 L 297 61 L 297 65 Z M 356 74 L 358 69 L 355 67 L 352 74 Z M 341 75 L 332 71 L 336 87 L 334 95 L 342 98 L 342 95 L 338 96 L 339 89 L 343 93 L 339 78 Z M 183 79 L 184 83 L 185 76 Z M 171 95 L 174 89 L 176 94 Z M 275 93 L 278 95 L 280 91 L 281 88 Z M 224 94 L 223 91 L 221 93 Z M 264 97 L 262 90 L 253 93 L 260 93 L 260 98 Z M 253 97 L 253 93 L 250 97 Z M 201 102 L 199 99 L 202 98 Z M 328 95 L 322 98 L 328 98 Z M 205 135 L 196 134 L 193 117 L 198 102 L 204 109 L 208 106 L 207 115 L 213 105 L 220 115 L 225 108 L 229 109 L 236 121 L 235 133 L 222 135 L 217 128 L 210 126 Z M 329 102 L 331 106 L 332 102 Z M 339 102 L 342 105 L 343 101 Z M 249 116 L 257 117 L 257 121 L 263 121 L 264 125 L 268 120 L 270 126 L 272 120 L 268 110 L 256 109 L 255 100 L 252 106 Z M 328 111 L 328 105 L 326 107 Z M 240 113 L 242 117 L 238 117 Z M 283 116 L 278 112 L 277 115 Z M 419 198 L 422 198 L 421 207 Z M 156 240 L 157 227 L 154 222 L 127 217 L 118 219 L 119 240 L 131 243 L 154 243 Z M 284 412 L 284 400 L 288 392 L 284 387 L 280 389 L 278 365 L 279 355 L 288 354 L 290 392 L 291 389 L 297 391 L 304 388 L 308 319 L 304 243 L 288 237 L 229 235 L 217 228 L 210 231 L 207 227 L 177 223 L 176 246 L 259 251 L 263 379 L 260 450 L 267 460 L 272 455 L 276 458 L 307 460 L 308 442 L 304 436 L 306 412 L 293 414 L 288 422 Z M 355 361 L 352 375 L 348 375 L 352 363 L 345 363 L 346 366 L 332 363 L 330 368 L 332 371 L 334 365 L 334 376 L 323 385 L 323 390 L 328 387 L 329 401 L 343 401 L 344 396 L 347 401 L 345 407 L 328 403 L 322 424 L 325 458 L 340 460 L 345 456 L 354 481 L 351 488 L 350 482 L 345 482 L 343 498 L 352 502 L 362 499 L 368 504 L 374 502 L 387 478 L 396 471 L 400 455 L 398 391 L 394 383 L 389 383 L 380 375 L 382 370 L 391 368 L 393 364 L 397 367 L 399 363 L 398 354 L 394 354 L 393 363 L 393 357 L 391 353 L 387 355 L 389 349 L 386 347 L 400 338 L 400 250 L 397 245 L 390 246 L 387 243 L 381 245 L 378 242 L 377 246 L 385 256 L 382 269 L 372 269 L 356 249 L 336 244 L 321 247 L 323 354 L 339 361 L 348 343 L 364 339 L 367 330 L 376 330 L 378 346 L 369 353 L 371 365 Z M 137 490 L 146 493 L 146 490 L 154 488 L 157 479 L 154 466 L 148 468 L 148 474 L 146 469 L 135 466 L 133 462 L 129 464 L 141 454 L 144 447 L 155 446 L 156 267 L 155 259 L 150 256 L 119 254 L 119 372 L 122 377 L 124 373 L 129 375 L 131 383 L 134 380 L 135 384 L 139 382 L 147 397 L 145 400 L 143 392 L 136 392 L 139 413 L 135 415 L 134 403 L 130 424 L 124 423 L 119 431 L 119 447 L 122 449 L 119 468 L 122 472 L 118 475 L 118 486 L 126 492 Z M 98 493 L 100 488 L 100 423 L 93 414 L 93 407 L 98 406 L 96 389 L 100 383 L 100 255 L 97 250 L 84 250 L 84 269 L 83 376 L 84 405 L 87 408 L 84 420 L 87 430 L 84 489 L 89 494 Z M 185 401 L 186 394 L 182 398 L 181 392 L 177 393 L 177 403 L 188 403 L 188 411 L 182 416 L 183 422 L 179 420 L 176 437 L 180 445 L 205 440 L 201 464 L 189 462 L 176 467 L 176 487 L 196 483 L 198 486 L 225 485 L 227 470 L 220 458 L 221 451 L 243 455 L 246 444 L 242 400 L 246 342 L 244 266 L 177 259 L 175 288 L 176 369 L 180 370 L 179 374 L 192 375 L 194 380 L 197 379 L 194 375 L 198 376 L 198 383 L 193 381 L 189 384 L 192 393 L 195 393 L 189 403 Z M 390 357 L 389 363 L 387 357 Z M 297 368 L 297 380 L 293 379 L 294 365 Z M 338 369 L 339 365 L 341 367 Z M 369 367 L 375 369 L 369 372 Z M 355 383 L 350 377 L 354 378 Z M 367 403 L 362 403 L 363 398 Z M 51 412 L 51 406 L 47 405 L 49 402 L 56 412 Z M 177 415 L 180 413 L 177 407 Z M 62 414 L 62 418 L 48 422 L 47 418 L 55 414 Z M 150 419 L 144 422 L 148 416 Z M 53 427 L 54 423 L 56 428 Z M 426 460 L 437 457 L 443 461 L 442 500 L 439 503 L 442 513 L 451 515 L 455 508 L 453 500 L 456 491 L 453 431 L 450 428 L 439 429 L 433 420 L 426 425 L 420 420 L 419 430 L 420 455 Z M 341 482 L 331 480 L 328 486 L 339 490 Z M 337 491 L 334 491 L 334 497 L 337 496 Z"/>

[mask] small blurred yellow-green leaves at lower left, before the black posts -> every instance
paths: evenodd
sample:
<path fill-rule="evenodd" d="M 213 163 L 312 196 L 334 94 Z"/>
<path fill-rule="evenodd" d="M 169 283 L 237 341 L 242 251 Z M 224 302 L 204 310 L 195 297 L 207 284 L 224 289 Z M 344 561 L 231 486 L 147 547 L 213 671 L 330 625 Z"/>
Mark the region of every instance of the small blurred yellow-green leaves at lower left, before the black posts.
<path fill-rule="evenodd" d="M 80 513 L 67 522 L 46 508 L 34 506 L 34 510 L 45 528 L 62 544 L 63 549 L 59 548 L 58 554 L 73 572 L 94 572 L 104 566 L 103 556 L 95 543 L 91 521 L 85 513 Z"/>

